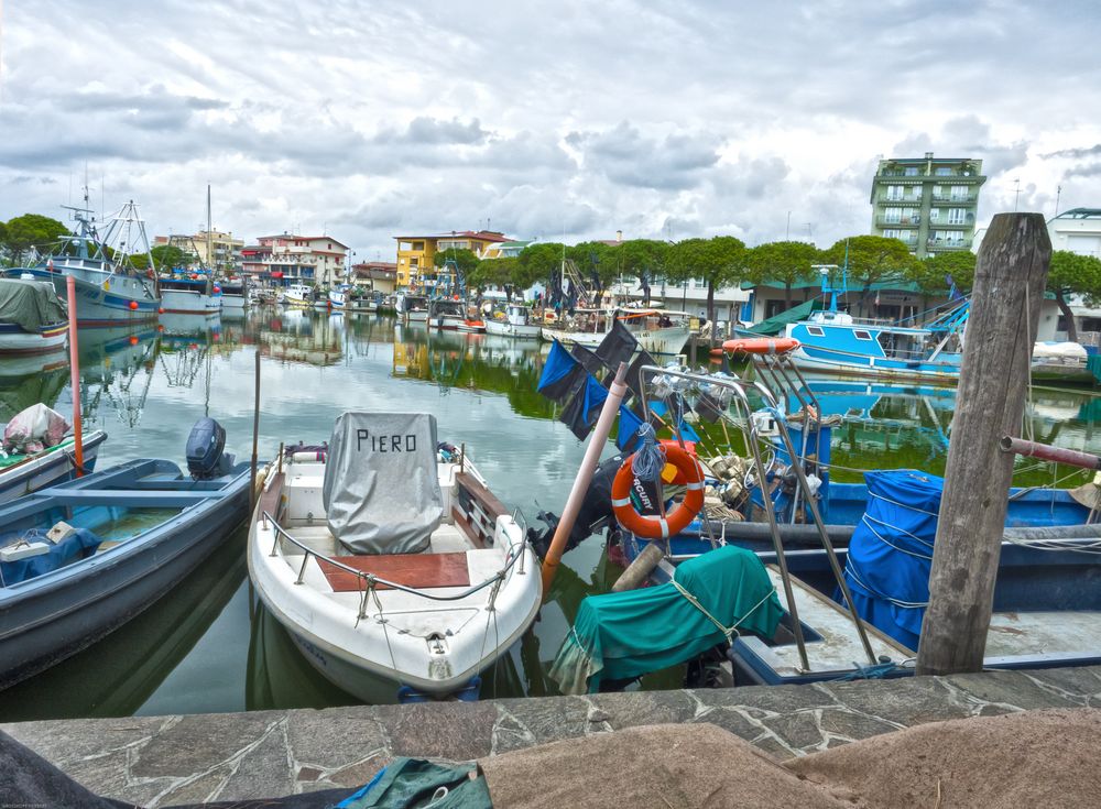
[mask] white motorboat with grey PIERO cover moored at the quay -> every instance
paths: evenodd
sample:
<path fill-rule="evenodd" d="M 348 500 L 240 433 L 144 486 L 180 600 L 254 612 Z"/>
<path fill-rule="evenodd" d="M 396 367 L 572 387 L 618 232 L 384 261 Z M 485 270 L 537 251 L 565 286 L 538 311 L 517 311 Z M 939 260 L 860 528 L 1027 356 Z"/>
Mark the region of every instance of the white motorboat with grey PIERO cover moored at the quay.
<path fill-rule="evenodd" d="M 475 696 L 541 603 L 520 526 L 427 414 L 345 413 L 288 451 L 248 559 L 306 660 L 367 702 Z"/>

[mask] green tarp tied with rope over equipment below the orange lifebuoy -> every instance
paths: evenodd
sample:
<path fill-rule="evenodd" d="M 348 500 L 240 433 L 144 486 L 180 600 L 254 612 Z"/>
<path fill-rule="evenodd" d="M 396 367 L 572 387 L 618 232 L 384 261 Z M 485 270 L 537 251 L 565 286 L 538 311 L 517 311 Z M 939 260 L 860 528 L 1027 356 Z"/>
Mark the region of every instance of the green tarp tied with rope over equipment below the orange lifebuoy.
<path fill-rule="evenodd" d="M 756 555 L 732 545 L 682 562 L 676 583 L 723 626 L 771 637 L 783 616 Z M 726 634 L 674 583 L 590 595 L 581 602 L 550 676 L 563 693 L 595 693 L 603 679 L 640 677 L 723 643 Z"/>

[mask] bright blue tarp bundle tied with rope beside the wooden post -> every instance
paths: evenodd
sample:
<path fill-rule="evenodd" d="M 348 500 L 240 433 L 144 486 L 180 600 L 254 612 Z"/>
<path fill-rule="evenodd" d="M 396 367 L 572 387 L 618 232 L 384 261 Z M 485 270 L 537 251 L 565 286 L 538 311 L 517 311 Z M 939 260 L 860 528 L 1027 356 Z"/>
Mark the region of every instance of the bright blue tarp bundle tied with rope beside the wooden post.
<path fill-rule="evenodd" d="M 912 469 L 864 480 L 868 509 L 849 540 L 844 578 L 862 619 L 917 649 L 945 481 Z"/>

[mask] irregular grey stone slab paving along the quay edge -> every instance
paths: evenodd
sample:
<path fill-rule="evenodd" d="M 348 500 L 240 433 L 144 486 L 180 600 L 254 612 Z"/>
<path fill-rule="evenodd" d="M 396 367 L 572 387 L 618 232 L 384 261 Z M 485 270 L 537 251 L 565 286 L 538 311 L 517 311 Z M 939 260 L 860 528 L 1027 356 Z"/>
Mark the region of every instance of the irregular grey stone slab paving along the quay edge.
<path fill-rule="evenodd" d="M 357 787 L 399 755 L 479 758 L 642 724 L 710 722 L 787 758 L 923 722 L 1066 707 L 1101 708 L 1101 667 L 0 730 L 101 795 L 156 807 Z"/>

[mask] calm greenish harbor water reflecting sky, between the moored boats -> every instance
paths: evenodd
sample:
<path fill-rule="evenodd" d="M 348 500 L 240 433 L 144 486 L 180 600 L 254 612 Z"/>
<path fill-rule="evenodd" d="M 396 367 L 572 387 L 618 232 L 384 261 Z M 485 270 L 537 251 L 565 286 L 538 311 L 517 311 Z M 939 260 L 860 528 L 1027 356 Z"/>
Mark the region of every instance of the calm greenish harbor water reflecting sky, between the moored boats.
<path fill-rule="evenodd" d="M 261 356 L 260 457 L 281 442 L 327 440 L 344 411 L 424 411 L 439 439 L 466 448 L 490 488 L 531 523 L 559 511 L 585 445 L 535 390 L 546 347 L 487 335 L 403 327 L 373 315 L 265 309 L 247 318 L 164 316 L 142 330 L 80 334 L 85 429 L 109 434 L 98 468 L 139 457 L 183 462 L 196 419 L 227 430 L 227 450 L 251 455 L 254 353 Z M 833 430 L 835 480 L 860 469 L 942 473 L 955 406 L 950 387 L 811 380 Z M 0 362 L 0 422 L 44 402 L 72 413 L 63 356 Z M 1101 451 L 1101 398 L 1035 389 L 1025 435 Z M 713 436 L 713 433 L 711 434 Z M 705 450 L 719 449 L 708 446 Z M 607 453 L 614 451 L 609 445 Z M 1018 485 L 1067 487 L 1081 472 L 1018 459 Z M 64 717 L 323 708 L 355 699 L 317 675 L 250 592 L 242 528 L 183 584 L 105 641 L 4 692 L 0 721 Z M 563 559 L 534 630 L 483 677 L 484 697 L 556 693 L 546 671 L 580 600 L 620 570 L 593 537 Z M 646 678 L 675 688 L 683 671 Z"/>

